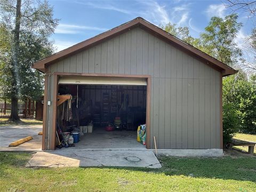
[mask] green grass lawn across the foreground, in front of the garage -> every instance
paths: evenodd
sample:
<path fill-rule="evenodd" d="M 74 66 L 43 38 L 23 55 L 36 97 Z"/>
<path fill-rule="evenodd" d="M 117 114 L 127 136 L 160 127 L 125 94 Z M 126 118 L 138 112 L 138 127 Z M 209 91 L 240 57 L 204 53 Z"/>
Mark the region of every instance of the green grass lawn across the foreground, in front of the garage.
<path fill-rule="evenodd" d="M 162 169 L 32 169 L 29 154 L 0 153 L 0 191 L 256 191 L 256 158 L 159 157 Z"/>

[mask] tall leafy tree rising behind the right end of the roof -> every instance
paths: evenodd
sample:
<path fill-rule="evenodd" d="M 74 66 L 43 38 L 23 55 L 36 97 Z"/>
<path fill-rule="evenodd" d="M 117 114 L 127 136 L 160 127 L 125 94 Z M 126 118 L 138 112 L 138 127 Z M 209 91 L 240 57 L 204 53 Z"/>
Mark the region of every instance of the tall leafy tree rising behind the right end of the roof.
<path fill-rule="evenodd" d="M 235 42 L 242 27 L 237 19 L 237 14 L 227 15 L 224 19 L 212 17 L 205 33 L 201 34 L 204 51 L 229 66 L 235 66 L 242 56 L 242 51 Z"/>

